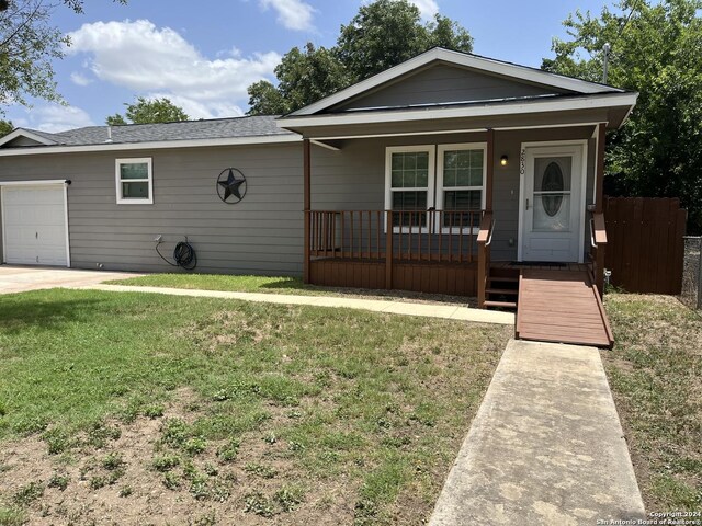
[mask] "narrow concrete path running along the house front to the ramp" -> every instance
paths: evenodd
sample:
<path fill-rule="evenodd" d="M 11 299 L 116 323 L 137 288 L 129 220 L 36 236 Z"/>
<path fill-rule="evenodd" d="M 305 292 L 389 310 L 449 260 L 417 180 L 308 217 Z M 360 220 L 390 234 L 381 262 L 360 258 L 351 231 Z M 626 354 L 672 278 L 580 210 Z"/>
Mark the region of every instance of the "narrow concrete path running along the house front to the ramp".
<path fill-rule="evenodd" d="M 335 296 L 296 296 L 286 294 L 227 293 L 220 290 L 200 290 L 188 288 L 136 287 L 126 285 L 89 285 L 79 287 L 91 290 L 120 293 L 154 293 L 171 296 L 193 296 L 205 298 L 239 299 L 282 305 L 313 305 L 316 307 L 342 307 L 347 309 L 371 310 L 392 315 L 445 318 L 449 320 L 474 321 L 478 323 L 514 324 L 514 315 L 484 309 L 471 309 L 456 305 L 417 304 L 411 301 L 392 301 L 380 299 L 341 298 Z"/>

